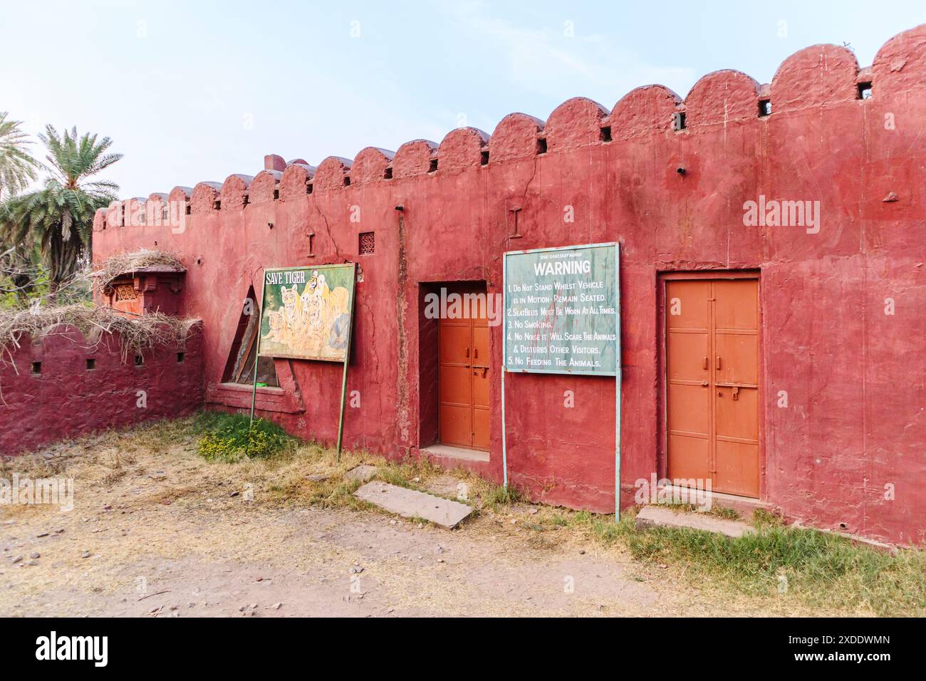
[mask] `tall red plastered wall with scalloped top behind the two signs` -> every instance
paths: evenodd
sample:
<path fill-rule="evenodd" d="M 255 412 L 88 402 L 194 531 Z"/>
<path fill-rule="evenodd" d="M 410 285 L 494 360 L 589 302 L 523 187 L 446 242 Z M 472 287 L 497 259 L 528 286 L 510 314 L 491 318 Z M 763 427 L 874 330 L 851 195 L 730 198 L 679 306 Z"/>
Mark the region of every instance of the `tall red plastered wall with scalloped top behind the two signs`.
<path fill-rule="evenodd" d="M 862 82 L 872 83 L 870 99 L 859 98 Z M 770 116 L 758 115 L 762 99 Z M 440 145 L 417 140 L 394 154 L 367 147 L 353 161 L 325 158 L 317 168 L 269 157 L 271 170 L 254 178 L 176 187 L 101 211 L 94 257 L 139 247 L 182 254 L 181 313 L 206 325 L 206 399 L 243 408 L 249 396 L 218 384 L 241 302 L 249 286 L 260 291 L 262 268 L 356 260 L 363 282 L 348 389 L 361 405 L 348 410 L 346 443 L 399 457 L 427 442 L 422 420 L 432 432 L 432 409 L 419 403 L 433 394 L 420 384 L 422 285 L 485 281 L 500 292 L 507 250 L 619 241 L 624 505 L 635 480 L 665 473 L 659 274 L 759 271 L 762 498 L 807 523 L 921 541 L 923 111 L 919 27 L 884 44 L 861 71 L 847 49 L 815 45 L 786 59 L 770 85 L 724 70 L 684 101 L 659 85 L 633 90 L 610 111 L 574 98 L 545 123 L 511 114 L 491 138 L 458 129 Z M 686 121 L 678 132 L 676 112 Z M 820 232 L 745 226 L 744 204 L 760 195 L 820 201 Z M 184 224 L 150 224 L 168 198 L 189 206 Z M 574 222 L 564 221 L 567 207 Z M 512 239 L 516 214 L 522 236 Z M 144 219 L 126 224 L 131 215 Z M 357 235 L 368 231 L 376 252 L 359 256 Z M 884 313 L 886 298 L 893 315 Z M 492 351 L 493 437 L 483 469 L 500 480 L 500 327 Z M 282 387 L 262 391 L 258 408 L 300 435 L 332 441 L 341 367 L 277 367 Z M 513 483 L 549 503 L 613 510 L 613 380 L 521 374 L 506 383 Z M 565 390 L 574 391 L 575 409 L 564 409 Z M 782 390 L 787 408 L 777 406 Z"/>

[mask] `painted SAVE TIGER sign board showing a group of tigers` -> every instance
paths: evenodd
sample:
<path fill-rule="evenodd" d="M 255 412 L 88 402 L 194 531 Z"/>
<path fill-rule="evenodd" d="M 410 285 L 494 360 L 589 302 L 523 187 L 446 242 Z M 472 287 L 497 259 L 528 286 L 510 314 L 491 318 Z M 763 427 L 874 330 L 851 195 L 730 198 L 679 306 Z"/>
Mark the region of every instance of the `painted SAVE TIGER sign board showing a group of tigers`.
<path fill-rule="evenodd" d="M 265 270 L 260 355 L 344 361 L 354 281 L 354 263 Z"/>

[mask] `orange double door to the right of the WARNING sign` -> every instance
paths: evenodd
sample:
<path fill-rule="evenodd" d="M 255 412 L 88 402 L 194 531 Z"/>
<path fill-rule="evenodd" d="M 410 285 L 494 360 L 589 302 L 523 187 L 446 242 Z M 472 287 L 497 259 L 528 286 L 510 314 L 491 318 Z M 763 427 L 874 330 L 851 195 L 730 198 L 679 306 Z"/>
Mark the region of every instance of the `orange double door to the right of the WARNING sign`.
<path fill-rule="evenodd" d="M 669 478 L 758 497 L 758 280 L 666 281 Z"/>

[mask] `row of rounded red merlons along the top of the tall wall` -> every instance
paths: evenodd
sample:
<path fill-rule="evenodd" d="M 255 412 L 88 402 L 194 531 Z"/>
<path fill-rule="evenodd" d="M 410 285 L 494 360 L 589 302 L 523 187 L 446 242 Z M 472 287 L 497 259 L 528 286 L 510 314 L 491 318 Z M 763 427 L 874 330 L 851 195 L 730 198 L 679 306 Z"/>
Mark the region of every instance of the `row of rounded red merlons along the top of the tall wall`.
<path fill-rule="evenodd" d="M 295 200 L 372 183 L 492 166 L 520 158 L 555 155 L 588 145 L 620 143 L 645 135 L 698 134 L 716 126 L 747 123 L 769 116 L 845 104 L 862 98 L 888 99 L 926 86 L 926 25 L 895 35 L 882 45 L 873 64 L 859 69 L 845 46 L 817 44 L 787 57 L 770 83 L 722 69 L 694 83 L 682 99 L 669 88 L 644 85 L 610 110 L 585 97 L 556 107 L 547 120 L 512 113 L 492 134 L 476 128 L 448 132 L 440 144 L 412 140 L 393 152 L 367 146 L 354 159 L 328 157 L 318 166 L 303 158 L 270 154 L 257 175 L 234 173 L 224 183 L 174 187 L 169 194 L 114 202 L 100 210 L 94 230 L 152 223 L 165 211 L 205 215 L 242 210 L 248 205 Z M 178 208 L 180 207 L 180 208 Z"/>

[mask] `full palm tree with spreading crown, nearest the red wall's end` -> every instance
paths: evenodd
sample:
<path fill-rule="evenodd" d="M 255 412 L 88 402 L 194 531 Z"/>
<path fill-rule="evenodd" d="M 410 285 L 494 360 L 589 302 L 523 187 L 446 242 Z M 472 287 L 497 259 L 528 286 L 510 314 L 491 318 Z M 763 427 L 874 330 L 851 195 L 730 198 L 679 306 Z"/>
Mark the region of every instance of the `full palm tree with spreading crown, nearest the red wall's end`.
<path fill-rule="evenodd" d="M 59 135 L 51 125 L 39 139 L 48 150 L 44 187 L 13 196 L 0 207 L 0 241 L 37 246 L 48 271 L 54 300 L 57 289 L 91 259 L 94 213 L 116 198 L 119 186 L 93 177 L 122 158 L 110 154 L 108 137 L 71 128 Z"/>

